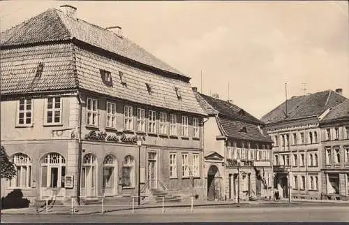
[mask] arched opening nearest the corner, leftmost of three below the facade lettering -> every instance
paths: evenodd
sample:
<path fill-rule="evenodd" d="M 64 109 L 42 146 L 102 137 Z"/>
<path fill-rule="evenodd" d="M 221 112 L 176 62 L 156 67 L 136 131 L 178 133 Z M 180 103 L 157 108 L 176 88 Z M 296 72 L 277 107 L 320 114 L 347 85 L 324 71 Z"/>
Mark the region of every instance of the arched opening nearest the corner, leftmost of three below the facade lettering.
<path fill-rule="evenodd" d="M 83 196 L 96 195 L 96 157 L 91 153 L 82 159 L 81 189 Z"/>

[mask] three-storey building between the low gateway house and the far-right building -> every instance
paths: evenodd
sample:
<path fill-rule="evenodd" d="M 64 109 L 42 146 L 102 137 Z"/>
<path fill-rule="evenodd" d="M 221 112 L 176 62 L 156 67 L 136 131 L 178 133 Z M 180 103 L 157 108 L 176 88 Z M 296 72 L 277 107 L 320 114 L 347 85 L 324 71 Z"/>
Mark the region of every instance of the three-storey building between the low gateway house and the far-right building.
<path fill-rule="evenodd" d="M 343 101 L 346 98 L 332 90 L 294 96 L 262 117 L 274 140 L 274 189 L 281 198 L 321 198 L 319 122 Z"/>

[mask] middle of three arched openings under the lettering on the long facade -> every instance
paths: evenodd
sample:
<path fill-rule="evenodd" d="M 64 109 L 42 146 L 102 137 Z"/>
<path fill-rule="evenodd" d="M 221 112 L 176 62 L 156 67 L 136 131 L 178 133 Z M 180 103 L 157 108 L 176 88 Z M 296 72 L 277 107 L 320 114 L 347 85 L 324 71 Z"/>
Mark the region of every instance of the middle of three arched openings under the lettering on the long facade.
<path fill-rule="evenodd" d="M 103 161 L 103 189 L 105 194 L 117 194 L 117 160 L 111 154 Z"/>

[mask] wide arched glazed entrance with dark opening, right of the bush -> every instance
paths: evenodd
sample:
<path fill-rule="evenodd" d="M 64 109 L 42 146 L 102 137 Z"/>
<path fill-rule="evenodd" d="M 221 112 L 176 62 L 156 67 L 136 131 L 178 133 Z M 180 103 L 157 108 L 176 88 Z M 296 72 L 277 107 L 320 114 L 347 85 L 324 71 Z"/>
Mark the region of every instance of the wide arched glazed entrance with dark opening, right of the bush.
<path fill-rule="evenodd" d="M 40 198 L 63 201 L 65 189 L 66 161 L 61 154 L 47 154 L 41 161 Z"/>

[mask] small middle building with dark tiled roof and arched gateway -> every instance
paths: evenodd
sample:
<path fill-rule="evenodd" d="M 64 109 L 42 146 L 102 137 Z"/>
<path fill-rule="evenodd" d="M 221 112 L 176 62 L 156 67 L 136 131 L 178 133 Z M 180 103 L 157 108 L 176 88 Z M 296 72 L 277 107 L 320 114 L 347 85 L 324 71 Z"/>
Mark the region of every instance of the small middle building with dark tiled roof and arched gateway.
<path fill-rule="evenodd" d="M 272 139 L 264 125 L 232 101 L 195 96 L 209 115 L 204 122 L 207 198 L 232 201 L 272 197 Z"/>

